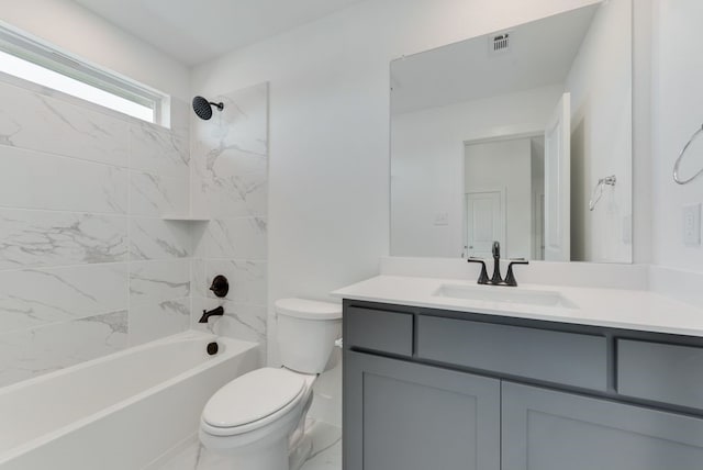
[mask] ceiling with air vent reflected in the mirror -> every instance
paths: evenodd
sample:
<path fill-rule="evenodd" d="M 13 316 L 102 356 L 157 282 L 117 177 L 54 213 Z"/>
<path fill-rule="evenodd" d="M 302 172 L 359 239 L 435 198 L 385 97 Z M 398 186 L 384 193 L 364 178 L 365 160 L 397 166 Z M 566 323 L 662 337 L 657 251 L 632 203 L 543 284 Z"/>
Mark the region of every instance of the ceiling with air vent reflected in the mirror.
<path fill-rule="evenodd" d="M 489 52 L 493 33 L 394 60 L 392 114 L 562 83 L 598 8 L 511 27 L 506 53 Z"/>

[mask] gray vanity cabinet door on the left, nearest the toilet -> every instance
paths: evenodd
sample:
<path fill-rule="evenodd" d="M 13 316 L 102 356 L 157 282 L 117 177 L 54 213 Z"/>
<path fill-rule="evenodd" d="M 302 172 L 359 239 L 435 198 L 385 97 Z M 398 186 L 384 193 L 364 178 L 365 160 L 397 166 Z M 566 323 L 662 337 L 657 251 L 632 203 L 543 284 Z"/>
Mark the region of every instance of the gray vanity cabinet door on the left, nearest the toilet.
<path fill-rule="evenodd" d="M 344 352 L 345 470 L 499 470 L 500 382 Z"/>

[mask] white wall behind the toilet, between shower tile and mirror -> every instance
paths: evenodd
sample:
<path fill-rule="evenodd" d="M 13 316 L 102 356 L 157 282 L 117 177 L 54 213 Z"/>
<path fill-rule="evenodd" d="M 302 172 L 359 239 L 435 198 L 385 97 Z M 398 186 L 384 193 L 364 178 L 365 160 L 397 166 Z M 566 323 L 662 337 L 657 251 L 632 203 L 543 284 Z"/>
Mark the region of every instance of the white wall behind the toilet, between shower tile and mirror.
<path fill-rule="evenodd" d="M 202 93 L 271 83 L 269 312 L 388 254 L 391 59 L 589 3 L 369 0 L 197 67 Z"/>

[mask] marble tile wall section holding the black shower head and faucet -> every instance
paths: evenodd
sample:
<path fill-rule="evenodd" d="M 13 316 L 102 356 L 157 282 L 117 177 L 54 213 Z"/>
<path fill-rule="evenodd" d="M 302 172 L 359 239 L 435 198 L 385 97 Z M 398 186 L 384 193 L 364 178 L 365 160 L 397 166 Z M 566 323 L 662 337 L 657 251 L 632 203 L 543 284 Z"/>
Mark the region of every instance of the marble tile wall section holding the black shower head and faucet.
<path fill-rule="evenodd" d="M 191 120 L 192 210 L 211 217 L 194 233 L 193 328 L 202 311 L 223 305 L 207 328 L 256 340 L 266 351 L 268 258 L 268 85 L 209 97 L 224 103 L 210 121 Z M 225 299 L 207 288 L 230 280 Z"/>

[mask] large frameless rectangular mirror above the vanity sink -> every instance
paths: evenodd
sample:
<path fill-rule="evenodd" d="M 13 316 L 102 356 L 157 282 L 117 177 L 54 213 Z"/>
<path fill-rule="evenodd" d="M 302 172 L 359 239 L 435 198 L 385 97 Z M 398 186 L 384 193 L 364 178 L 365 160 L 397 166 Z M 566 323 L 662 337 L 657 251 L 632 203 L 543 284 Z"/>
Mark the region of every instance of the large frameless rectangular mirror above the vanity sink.
<path fill-rule="evenodd" d="M 391 255 L 632 262 L 632 3 L 391 63 Z"/>

